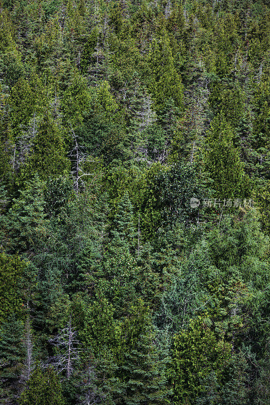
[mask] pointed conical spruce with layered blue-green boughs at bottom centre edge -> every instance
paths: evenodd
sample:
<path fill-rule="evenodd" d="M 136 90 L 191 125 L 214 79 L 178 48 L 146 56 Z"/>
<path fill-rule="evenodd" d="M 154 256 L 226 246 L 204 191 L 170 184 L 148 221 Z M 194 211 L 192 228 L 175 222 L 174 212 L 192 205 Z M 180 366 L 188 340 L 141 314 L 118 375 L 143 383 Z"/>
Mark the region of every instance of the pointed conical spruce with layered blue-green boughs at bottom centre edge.
<path fill-rule="evenodd" d="M 122 326 L 118 375 L 123 392 L 120 398 L 129 405 L 168 403 L 165 373 L 153 344 L 148 311 L 142 300 L 137 300 Z"/>

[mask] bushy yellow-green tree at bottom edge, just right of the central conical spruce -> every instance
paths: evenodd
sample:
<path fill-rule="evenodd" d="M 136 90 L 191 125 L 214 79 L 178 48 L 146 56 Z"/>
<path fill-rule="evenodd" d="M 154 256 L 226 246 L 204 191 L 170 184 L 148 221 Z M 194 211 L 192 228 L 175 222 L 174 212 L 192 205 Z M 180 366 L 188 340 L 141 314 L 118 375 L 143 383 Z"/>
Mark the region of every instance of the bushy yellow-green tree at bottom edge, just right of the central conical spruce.
<path fill-rule="evenodd" d="M 191 319 L 187 330 L 175 336 L 171 379 L 177 405 L 194 403 L 204 392 L 201 381 L 210 373 L 220 383 L 229 364 L 232 346 L 217 339 L 210 325 L 209 319 L 200 316 Z"/>

